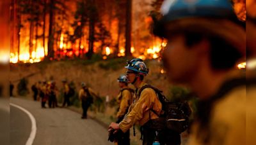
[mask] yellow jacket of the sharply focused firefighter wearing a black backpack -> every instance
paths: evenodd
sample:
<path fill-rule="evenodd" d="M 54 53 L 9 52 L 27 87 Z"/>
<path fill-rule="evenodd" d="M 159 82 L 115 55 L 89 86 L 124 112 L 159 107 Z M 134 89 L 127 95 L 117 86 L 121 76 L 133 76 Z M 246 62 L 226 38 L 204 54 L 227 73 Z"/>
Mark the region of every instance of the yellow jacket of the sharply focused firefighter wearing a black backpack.
<path fill-rule="evenodd" d="M 125 115 L 124 120 L 119 123 L 122 132 L 127 132 L 134 123 L 144 125 L 148 120 L 158 118 L 157 114 L 150 111 L 150 108 L 154 109 L 158 114 L 161 112 L 162 104 L 152 88 L 145 88 L 141 92 L 141 95 L 138 96 L 140 88 L 144 85 L 147 84 L 142 82 L 139 88 L 136 89 L 136 92 L 134 93 L 134 102 L 132 102 L 132 105 L 129 107 L 129 111 Z"/>

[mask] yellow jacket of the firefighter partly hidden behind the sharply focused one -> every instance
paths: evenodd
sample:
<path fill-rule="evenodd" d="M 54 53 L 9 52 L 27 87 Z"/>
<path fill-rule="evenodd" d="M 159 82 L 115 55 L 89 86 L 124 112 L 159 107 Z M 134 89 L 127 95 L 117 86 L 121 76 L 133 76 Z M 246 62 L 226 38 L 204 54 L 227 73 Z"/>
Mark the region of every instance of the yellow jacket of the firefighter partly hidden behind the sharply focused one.
<path fill-rule="evenodd" d="M 125 88 L 128 88 L 128 87 L 125 87 Z M 132 93 L 129 90 L 123 90 L 122 92 L 119 92 L 116 100 L 119 103 L 119 109 L 116 114 L 116 117 L 120 118 L 125 115 L 127 109 L 132 104 L 132 100 L 133 100 Z"/>

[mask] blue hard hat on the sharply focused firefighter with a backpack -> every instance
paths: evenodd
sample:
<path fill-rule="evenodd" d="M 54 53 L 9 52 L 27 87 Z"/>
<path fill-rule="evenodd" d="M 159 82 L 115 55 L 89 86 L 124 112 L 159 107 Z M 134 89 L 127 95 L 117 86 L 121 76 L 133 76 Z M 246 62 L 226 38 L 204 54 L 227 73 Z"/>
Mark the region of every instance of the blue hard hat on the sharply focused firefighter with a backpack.
<path fill-rule="evenodd" d="M 132 71 L 141 72 L 143 74 L 148 74 L 148 68 L 142 59 L 132 59 L 127 62 L 127 69 Z"/>

